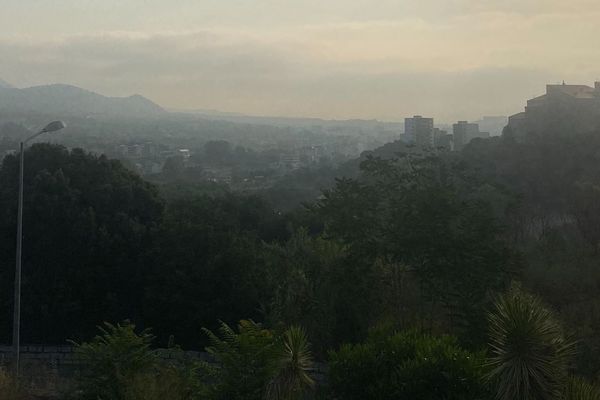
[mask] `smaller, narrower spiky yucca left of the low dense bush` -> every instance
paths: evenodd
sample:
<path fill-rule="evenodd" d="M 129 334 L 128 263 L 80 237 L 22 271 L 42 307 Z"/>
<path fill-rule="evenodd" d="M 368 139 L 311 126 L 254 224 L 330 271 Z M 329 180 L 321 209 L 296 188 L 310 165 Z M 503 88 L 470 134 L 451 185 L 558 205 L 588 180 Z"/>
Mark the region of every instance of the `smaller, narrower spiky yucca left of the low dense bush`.
<path fill-rule="evenodd" d="M 268 400 L 300 399 L 314 386 L 313 359 L 304 329 L 293 326 L 284 332 L 276 366 L 277 375 L 267 386 Z"/>

